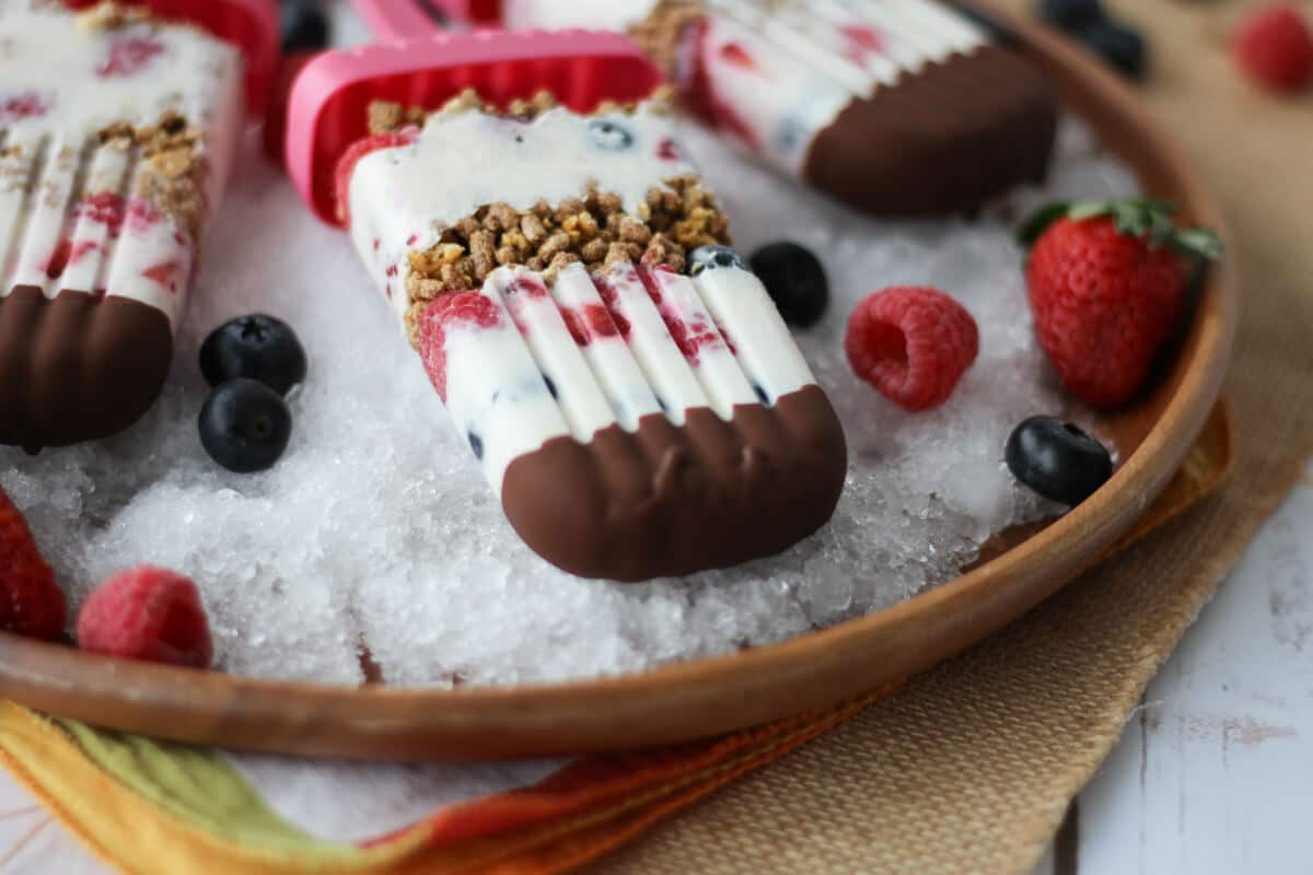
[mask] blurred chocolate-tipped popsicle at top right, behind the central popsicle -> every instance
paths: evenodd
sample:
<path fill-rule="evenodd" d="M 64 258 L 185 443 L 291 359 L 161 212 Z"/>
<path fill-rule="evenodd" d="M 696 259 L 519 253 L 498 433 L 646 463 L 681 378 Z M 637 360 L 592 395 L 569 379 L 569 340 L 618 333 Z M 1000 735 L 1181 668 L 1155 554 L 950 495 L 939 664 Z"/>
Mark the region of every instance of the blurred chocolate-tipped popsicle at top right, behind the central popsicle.
<path fill-rule="evenodd" d="M 684 106 L 783 173 L 884 215 L 972 211 L 1048 169 L 1057 100 L 937 0 L 356 0 L 379 35 L 454 18 L 630 34 Z"/>

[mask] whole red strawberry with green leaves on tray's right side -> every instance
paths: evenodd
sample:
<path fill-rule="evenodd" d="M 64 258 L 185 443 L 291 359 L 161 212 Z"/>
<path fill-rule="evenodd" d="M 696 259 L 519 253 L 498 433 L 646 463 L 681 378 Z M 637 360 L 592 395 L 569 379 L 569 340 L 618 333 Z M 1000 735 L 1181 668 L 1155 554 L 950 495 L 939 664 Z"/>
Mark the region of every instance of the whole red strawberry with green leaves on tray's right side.
<path fill-rule="evenodd" d="M 1174 211 L 1145 198 L 1056 203 L 1022 231 L 1040 345 L 1087 404 L 1130 400 L 1184 311 L 1187 260 L 1221 254 L 1217 235 L 1178 228 Z"/>

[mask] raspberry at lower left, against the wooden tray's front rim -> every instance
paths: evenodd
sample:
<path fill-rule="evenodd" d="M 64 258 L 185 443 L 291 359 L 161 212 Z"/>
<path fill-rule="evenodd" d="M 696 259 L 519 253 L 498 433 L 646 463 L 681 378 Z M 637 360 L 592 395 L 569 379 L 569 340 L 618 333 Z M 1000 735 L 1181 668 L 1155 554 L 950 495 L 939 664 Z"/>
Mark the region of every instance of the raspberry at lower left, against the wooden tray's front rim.
<path fill-rule="evenodd" d="M 186 577 L 152 565 L 114 575 L 77 614 L 84 651 L 129 660 L 209 668 L 210 624 Z"/>

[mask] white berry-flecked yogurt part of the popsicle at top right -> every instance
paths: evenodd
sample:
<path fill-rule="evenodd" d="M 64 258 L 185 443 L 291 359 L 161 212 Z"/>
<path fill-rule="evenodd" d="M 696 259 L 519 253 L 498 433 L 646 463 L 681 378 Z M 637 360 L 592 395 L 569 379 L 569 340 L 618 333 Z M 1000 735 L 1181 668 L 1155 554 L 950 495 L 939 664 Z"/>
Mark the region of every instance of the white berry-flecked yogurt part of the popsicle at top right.
<path fill-rule="evenodd" d="M 605 12 L 593 9 L 605 5 Z M 699 0 L 676 83 L 752 152 L 801 176 L 817 135 L 855 100 L 894 87 L 953 52 L 989 41 L 935 0 Z M 629 30 L 656 0 L 590 4 L 509 0 L 515 28 Z M 603 22 L 603 24 L 599 24 Z M 671 37 L 676 39 L 676 37 Z"/>

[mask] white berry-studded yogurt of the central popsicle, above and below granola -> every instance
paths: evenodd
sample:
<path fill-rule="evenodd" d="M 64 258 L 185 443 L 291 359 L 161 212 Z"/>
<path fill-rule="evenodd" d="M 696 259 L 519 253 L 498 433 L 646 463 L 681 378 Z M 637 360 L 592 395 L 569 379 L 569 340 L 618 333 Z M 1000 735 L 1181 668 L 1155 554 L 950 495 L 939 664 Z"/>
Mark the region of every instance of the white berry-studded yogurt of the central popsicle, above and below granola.
<path fill-rule="evenodd" d="M 662 415 L 681 426 L 702 408 L 730 421 L 737 408 L 814 384 L 762 283 L 737 261 L 697 277 L 628 258 L 593 270 L 503 264 L 479 287 L 432 303 L 411 294 L 412 256 L 449 245 L 448 231 L 490 205 L 527 213 L 600 192 L 637 219 L 650 215 L 654 190 L 692 176 L 670 121 L 647 105 L 599 115 L 555 108 L 532 121 L 437 113 L 355 164 L 352 239 L 402 324 L 418 324 L 429 375 L 494 489 L 517 458 L 555 438 L 587 443 Z"/>

